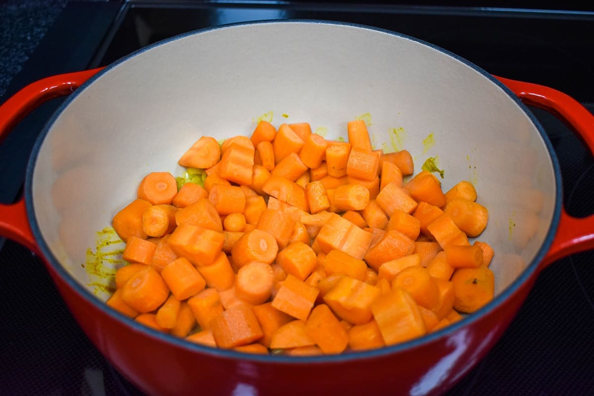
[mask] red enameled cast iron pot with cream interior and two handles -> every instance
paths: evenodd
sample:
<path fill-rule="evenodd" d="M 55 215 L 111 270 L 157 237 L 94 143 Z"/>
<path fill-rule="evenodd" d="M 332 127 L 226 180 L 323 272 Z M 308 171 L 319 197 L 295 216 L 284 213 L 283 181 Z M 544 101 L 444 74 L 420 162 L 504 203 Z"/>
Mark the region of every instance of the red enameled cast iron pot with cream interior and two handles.
<path fill-rule="evenodd" d="M 73 90 L 37 141 L 24 200 L 0 207 L 0 234 L 43 258 L 90 340 L 148 394 L 440 394 L 497 342 L 545 265 L 594 246 L 594 220 L 563 210 L 557 158 L 525 104 L 558 115 L 592 151 L 590 113 L 551 88 L 493 77 L 392 31 L 323 21 L 195 31 L 102 70 L 29 85 L 0 107 L 2 137 L 37 104 Z M 81 267 L 96 232 L 146 173 L 179 175 L 176 161 L 198 137 L 249 135 L 264 113 L 276 126 L 309 122 L 328 139 L 369 113 L 375 147 L 406 148 L 415 172 L 438 157 L 444 191 L 472 181 L 489 209 L 479 239 L 496 252 L 495 299 L 417 340 L 299 358 L 210 349 L 109 309 Z"/>

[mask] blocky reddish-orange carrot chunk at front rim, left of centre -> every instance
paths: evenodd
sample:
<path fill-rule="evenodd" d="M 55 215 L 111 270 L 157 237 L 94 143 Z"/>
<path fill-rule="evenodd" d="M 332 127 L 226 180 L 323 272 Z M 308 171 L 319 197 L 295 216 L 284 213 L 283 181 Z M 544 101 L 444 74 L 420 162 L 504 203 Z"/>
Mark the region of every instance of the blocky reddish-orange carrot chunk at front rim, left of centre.
<path fill-rule="evenodd" d="M 221 348 L 251 344 L 263 335 L 258 319 L 248 305 L 238 305 L 223 311 L 210 321 L 210 330 L 217 346 Z"/>

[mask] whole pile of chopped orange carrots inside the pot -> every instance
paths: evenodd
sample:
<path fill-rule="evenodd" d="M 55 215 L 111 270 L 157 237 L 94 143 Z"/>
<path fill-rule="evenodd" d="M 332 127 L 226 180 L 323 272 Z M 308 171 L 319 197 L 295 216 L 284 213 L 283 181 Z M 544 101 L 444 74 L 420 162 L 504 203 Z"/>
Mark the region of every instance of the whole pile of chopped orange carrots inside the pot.
<path fill-rule="evenodd" d="M 436 331 L 493 298 L 488 211 L 408 151 L 260 121 L 201 137 L 189 179 L 152 172 L 113 217 L 128 265 L 107 304 L 159 331 L 247 353 L 336 354 Z"/>

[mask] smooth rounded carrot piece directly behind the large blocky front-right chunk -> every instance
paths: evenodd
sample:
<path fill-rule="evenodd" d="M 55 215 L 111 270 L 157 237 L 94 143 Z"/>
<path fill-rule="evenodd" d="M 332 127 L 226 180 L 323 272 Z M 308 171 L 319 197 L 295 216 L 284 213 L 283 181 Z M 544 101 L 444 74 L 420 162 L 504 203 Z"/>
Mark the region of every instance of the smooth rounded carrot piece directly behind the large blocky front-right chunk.
<path fill-rule="evenodd" d="M 439 290 L 429 271 L 420 265 L 406 267 L 392 280 L 392 290 L 401 287 L 418 305 L 434 309 L 439 303 Z"/>

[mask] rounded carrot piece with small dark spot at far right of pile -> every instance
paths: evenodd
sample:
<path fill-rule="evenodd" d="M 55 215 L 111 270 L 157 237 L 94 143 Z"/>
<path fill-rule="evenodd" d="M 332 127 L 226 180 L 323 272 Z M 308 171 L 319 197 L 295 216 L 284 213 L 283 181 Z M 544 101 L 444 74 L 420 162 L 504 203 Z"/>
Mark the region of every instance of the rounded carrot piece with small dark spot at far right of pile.
<path fill-rule="evenodd" d="M 472 313 L 481 309 L 494 296 L 494 275 L 488 267 L 458 268 L 451 276 L 454 284 L 454 309 Z"/>

